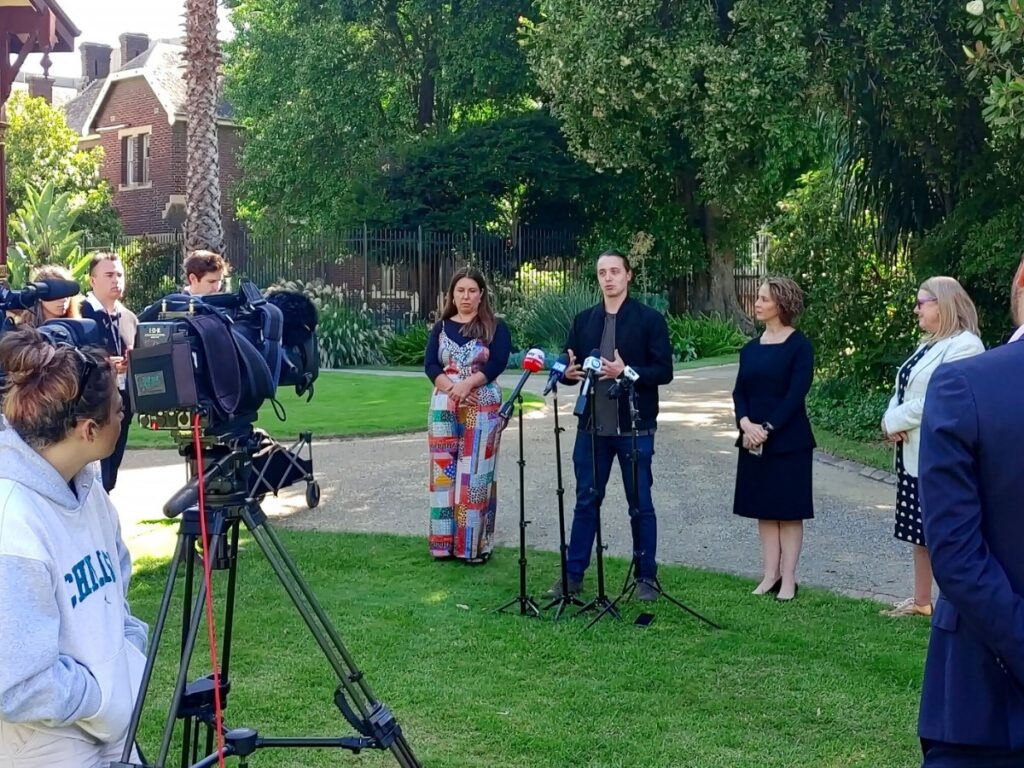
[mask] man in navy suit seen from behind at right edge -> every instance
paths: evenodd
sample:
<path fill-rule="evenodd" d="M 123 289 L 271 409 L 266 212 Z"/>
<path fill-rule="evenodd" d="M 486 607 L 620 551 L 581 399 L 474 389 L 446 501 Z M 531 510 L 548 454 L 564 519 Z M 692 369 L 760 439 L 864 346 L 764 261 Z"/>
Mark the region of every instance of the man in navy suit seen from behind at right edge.
<path fill-rule="evenodd" d="M 1022 381 L 1015 342 L 941 366 L 925 398 L 919 487 L 941 591 L 919 721 L 927 768 L 1024 766 Z"/>

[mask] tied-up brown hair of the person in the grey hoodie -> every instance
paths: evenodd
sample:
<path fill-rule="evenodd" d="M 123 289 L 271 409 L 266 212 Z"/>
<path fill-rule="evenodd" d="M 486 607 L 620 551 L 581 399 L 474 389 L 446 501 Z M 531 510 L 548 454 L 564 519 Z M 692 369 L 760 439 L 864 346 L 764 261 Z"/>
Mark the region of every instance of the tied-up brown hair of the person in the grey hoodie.
<path fill-rule="evenodd" d="M 54 445 L 88 419 L 105 425 L 117 377 L 106 352 L 52 344 L 34 328 L 0 338 L 6 372 L 3 415 L 35 451 Z"/>

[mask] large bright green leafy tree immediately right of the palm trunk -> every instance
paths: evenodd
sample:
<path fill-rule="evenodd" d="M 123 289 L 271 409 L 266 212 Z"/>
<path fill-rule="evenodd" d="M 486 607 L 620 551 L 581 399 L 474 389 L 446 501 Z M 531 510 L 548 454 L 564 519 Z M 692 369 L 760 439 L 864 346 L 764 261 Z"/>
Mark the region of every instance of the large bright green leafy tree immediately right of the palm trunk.
<path fill-rule="evenodd" d="M 236 0 L 243 213 L 351 223 L 411 142 L 526 106 L 528 0 Z"/>

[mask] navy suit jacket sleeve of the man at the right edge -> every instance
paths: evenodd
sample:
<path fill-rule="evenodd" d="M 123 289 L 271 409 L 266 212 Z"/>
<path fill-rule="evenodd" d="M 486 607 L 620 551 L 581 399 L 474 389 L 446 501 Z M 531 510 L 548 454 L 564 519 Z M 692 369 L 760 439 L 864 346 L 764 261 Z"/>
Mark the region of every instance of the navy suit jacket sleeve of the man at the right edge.
<path fill-rule="evenodd" d="M 971 632 L 1024 686 L 1024 599 L 982 536 L 978 410 L 955 367 L 940 367 L 929 382 L 924 424 L 922 517 L 935 581 Z"/>

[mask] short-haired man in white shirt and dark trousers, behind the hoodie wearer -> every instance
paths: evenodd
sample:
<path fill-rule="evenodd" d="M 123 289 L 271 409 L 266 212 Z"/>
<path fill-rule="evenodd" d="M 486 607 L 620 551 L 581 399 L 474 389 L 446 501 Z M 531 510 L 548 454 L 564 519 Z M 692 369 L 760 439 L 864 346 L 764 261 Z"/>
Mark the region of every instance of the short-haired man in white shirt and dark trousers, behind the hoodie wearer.
<path fill-rule="evenodd" d="M 89 262 L 89 283 L 92 290 L 82 304 L 82 316 L 96 321 L 99 326 L 103 346 L 118 373 L 118 389 L 124 402 L 124 420 L 117 446 L 100 462 L 103 487 L 110 493 L 118 482 L 118 469 L 125 455 L 128 428 L 131 426 L 131 404 L 127 392 L 128 352 L 135 343 L 138 317 L 121 303 L 125 292 L 125 268 L 116 253 L 93 254 Z"/>

